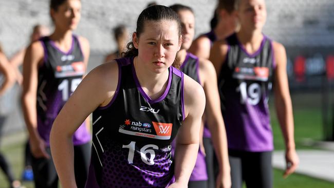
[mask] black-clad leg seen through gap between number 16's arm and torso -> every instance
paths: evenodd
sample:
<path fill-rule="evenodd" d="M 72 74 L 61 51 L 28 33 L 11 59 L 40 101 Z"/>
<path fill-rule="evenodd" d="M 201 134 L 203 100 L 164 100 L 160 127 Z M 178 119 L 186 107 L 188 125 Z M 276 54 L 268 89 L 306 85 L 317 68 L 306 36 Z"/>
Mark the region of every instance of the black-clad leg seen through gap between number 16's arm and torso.
<path fill-rule="evenodd" d="M 85 187 L 89 160 L 90 160 L 90 143 L 74 146 L 74 167 L 78 188 Z"/>

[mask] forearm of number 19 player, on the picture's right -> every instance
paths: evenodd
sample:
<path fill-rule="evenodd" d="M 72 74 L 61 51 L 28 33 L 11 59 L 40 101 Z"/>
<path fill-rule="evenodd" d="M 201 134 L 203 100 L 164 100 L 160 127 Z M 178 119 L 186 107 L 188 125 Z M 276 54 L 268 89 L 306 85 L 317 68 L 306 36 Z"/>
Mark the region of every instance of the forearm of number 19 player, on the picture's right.
<path fill-rule="evenodd" d="M 291 100 L 277 97 L 275 99 L 275 106 L 286 149 L 294 149 L 294 124 Z"/>

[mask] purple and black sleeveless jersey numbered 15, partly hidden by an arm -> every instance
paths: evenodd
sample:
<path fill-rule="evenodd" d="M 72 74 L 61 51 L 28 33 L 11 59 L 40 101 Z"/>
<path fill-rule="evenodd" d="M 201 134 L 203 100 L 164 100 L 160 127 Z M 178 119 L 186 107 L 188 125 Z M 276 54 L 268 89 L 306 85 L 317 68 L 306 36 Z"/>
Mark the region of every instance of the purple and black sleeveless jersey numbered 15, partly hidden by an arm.
<path fill-rule="evenodd" d="M 75 35 L 72 36 L 72 46 L 68 52 L 57 48 L 49 37 L 42 37 L 40 41 L 44 48 L 44 61 L 38 72 L 37 128 L 42 139 L 49 145 L 53 121 L 81 82 L 86 67 Z M 81 145 L 89 140 L 90 135 L 83 123 L 73 135 L 73 144 Z"/>

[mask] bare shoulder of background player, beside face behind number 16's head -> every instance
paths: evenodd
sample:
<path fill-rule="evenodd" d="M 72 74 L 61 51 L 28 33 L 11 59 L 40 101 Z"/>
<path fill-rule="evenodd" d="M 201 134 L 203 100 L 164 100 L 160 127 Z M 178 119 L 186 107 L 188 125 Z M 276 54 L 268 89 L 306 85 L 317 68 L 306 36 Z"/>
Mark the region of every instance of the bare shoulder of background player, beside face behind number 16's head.
<path fill-rule="evenodd" d="M 211 42 L 206 36 L 199 36 L 190 46 L 189 52 L 199 58 L 208 60 L 210 57 Z"/>

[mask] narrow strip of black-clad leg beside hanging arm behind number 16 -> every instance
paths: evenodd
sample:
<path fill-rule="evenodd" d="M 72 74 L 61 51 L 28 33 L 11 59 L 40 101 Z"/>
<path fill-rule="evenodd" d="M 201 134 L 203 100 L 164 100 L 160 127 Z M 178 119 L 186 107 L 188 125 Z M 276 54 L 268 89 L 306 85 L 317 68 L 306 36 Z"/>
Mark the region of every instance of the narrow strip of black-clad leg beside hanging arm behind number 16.
<path fill-rule="evenodd" d="M 215 175 L 213 170 L 213 146 L 210 138 L 203 138 L 203 145 L 205 148 L 205 162 L 207 164 L 207 173 L 208 173 L 208 188 L 214 188 L 215 187 Z"/>

